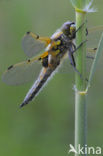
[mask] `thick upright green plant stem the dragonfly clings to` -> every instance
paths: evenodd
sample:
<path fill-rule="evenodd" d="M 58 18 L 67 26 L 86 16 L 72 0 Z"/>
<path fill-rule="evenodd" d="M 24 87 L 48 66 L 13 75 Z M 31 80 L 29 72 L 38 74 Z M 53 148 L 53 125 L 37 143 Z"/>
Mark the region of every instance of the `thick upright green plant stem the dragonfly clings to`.
<path fill-rule="evenodd" d="M 86 40 L 86 13 L 76 12 L 76 29 L 84 23 L 83 27 L 76 33 L 77 47 Z M 75 90 L 75 149 L 78 151 L 78 145 L 85 147 L 86 145 L 86 125 L 87 125 L 87 106 L 86 94 L 81 92 L 86 89 L 86 43 L 76 52 L 76 67 L 82 75 L 76 73 L 76 90 Z M 81 156 L 86 154 L 75 154 Z"/>

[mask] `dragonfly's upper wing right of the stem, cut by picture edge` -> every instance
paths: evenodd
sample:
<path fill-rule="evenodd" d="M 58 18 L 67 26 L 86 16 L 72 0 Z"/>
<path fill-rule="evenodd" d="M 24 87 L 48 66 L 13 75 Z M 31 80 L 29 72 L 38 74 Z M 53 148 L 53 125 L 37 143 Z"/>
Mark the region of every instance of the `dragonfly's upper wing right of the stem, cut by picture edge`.
<path fill-rule="evenodd" d="M 88 48 L 97 48 L 102 32 L 103 32 L 103 26 L 96 26 L 88 29 L 88 35 L 87 35 Z"/>

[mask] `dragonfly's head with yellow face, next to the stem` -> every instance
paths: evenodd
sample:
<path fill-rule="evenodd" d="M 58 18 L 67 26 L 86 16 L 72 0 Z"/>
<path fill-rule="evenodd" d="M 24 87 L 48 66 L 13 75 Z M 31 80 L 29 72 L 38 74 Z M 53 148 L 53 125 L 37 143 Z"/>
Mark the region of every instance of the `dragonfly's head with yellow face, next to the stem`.
<path fill-rule="evenodd" d="M 61 30 L 70 39 L 74 39 L 76 37 L 76 34 L 75 34 L 76 25 L 74 22 L 70 22 L 70 21 L 65 22 L 62 25 Z"/>

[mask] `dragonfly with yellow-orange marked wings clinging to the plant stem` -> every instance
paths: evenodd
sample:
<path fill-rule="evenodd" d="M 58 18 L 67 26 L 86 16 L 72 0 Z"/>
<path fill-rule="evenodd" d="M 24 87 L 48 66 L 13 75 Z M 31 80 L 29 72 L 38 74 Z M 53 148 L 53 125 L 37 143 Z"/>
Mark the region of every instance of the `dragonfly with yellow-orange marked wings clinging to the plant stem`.
<path fill-rule="evenodd" d="M 24 35 L 22 47 L 29 59 L 9 66 L 2 75 L 2 80 L 9 85 L 21 85 L 34 79 L 20 107 L 35 99 L 66 58 L 80 75 L 73 55 L 77 49 L 77 31 L 75 22 L 67 21 L 51 37 L 41 37 L 32 32 Z M 43 49 L 45 51 L 40 53 Z"/>

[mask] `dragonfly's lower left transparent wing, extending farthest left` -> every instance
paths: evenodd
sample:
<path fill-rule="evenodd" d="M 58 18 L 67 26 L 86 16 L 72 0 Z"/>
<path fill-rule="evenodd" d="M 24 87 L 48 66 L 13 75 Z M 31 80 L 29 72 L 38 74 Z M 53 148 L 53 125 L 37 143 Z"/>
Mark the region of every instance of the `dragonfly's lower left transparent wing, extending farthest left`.
<path fill-rule="evenodd" d="M 2 75 L 2 80 L 9 85 L 20 85 L 35 80 L 42 67 L 37 57 L 10 66 Z"/>

